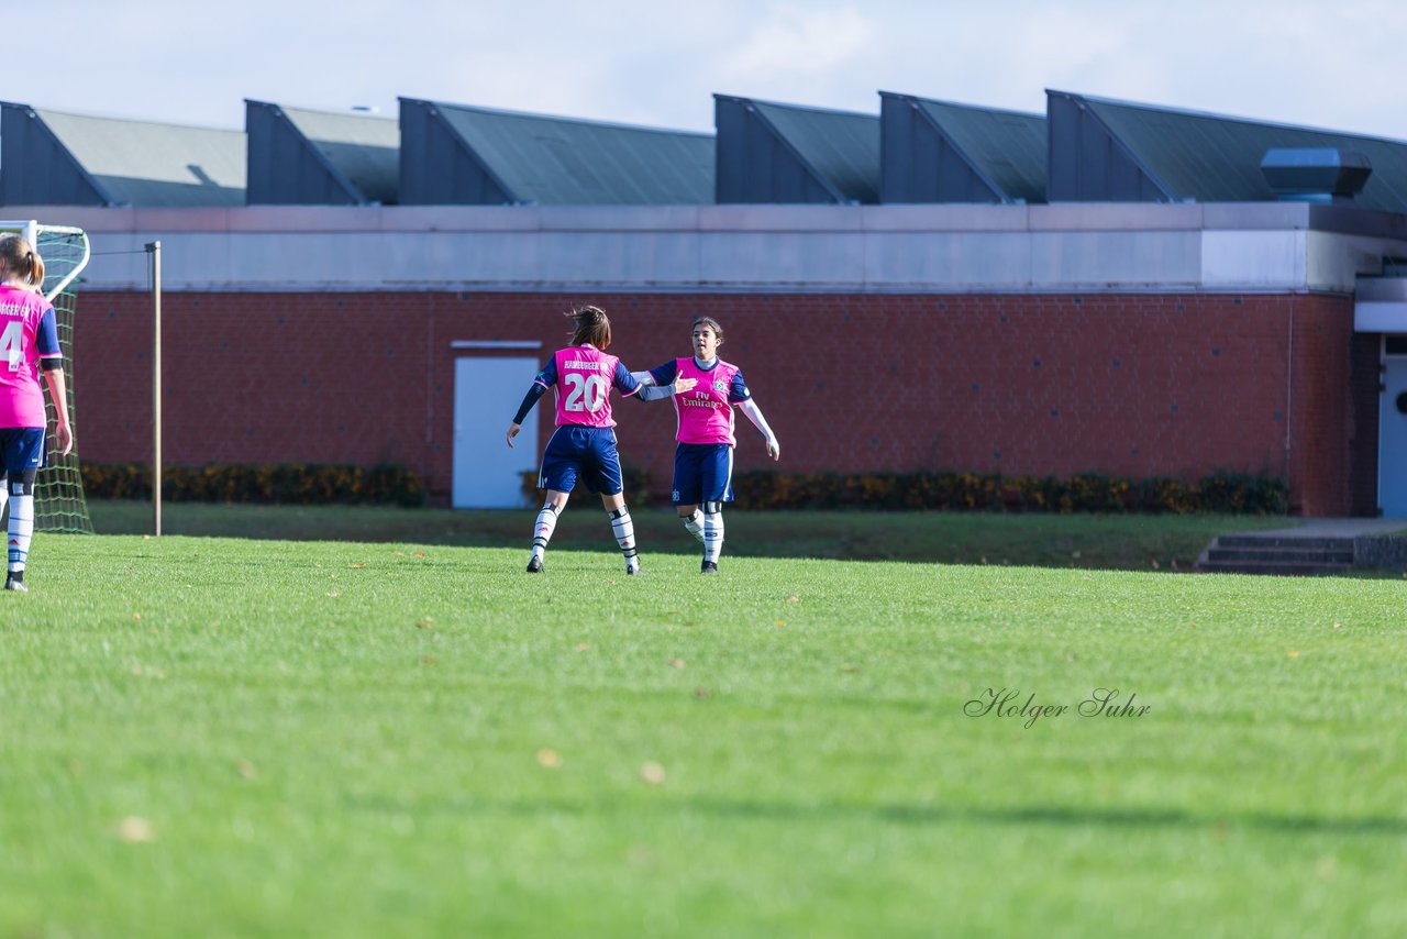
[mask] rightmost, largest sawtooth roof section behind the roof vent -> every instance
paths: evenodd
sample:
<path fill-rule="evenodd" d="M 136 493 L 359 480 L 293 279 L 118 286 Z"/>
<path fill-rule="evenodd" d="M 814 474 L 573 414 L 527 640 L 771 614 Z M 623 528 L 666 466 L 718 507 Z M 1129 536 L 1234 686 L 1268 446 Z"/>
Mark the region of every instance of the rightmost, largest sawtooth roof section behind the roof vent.
<path fill-rule="evenodd" d="M 1372 162 L 1372 176 L 1355 198 L 1356 206 L 1407 213 L 1407 142 L 1403 141 L 1069 92 L 1047 90 L 1047 103 L 1052 200 L 1133 194 L 1152 201 L 1276 201 L 1261 172 L 1266 151 L 1334 148 L 1363 153 Z M 1090 172 L 1092 163 L 1114 172 Z M 1110 186 L 1107 180 L 1113 176 L 1123 176 L 1121 183 Z"/>

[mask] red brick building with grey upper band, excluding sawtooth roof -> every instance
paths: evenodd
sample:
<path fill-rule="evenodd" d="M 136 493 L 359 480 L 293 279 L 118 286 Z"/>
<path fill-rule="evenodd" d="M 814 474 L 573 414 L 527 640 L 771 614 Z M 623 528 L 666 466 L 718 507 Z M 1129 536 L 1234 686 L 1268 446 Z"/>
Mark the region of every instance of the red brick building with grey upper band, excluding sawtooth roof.
<path fill-rule="evenodd" d="M 561 311 L 590 301 L 637 370 L 687 355 L 692 317 L 722 321 L 722 355 L 743 367 L 788 472 L 1238 470 L 1287 479 L 1294 512 L 1383 504 L 1379 372 L 1407 310 L 1377 280 L 1384 259 L 1407 256 L 1407 220 L 1389 213 L 28 211 L 83 225 L 97 252 L 75 339 L 87 460 L 149 453 L 141 248 L 160 239 L 173 463 L 395 462 L 440 501 L 494 503 L 476 494 L 515 472 L 505 455 L 535 465 L 502 439 L 535 363 L 563 344 Z M 1380 301 L 1365 305 L 1369 279 Z M 625 460 L 663 489 L 673 408 L 616 414 Z M 537 420 L 542 446 L 550 410 Z M 739 469 L 771 466 L 739 424 Z"/>

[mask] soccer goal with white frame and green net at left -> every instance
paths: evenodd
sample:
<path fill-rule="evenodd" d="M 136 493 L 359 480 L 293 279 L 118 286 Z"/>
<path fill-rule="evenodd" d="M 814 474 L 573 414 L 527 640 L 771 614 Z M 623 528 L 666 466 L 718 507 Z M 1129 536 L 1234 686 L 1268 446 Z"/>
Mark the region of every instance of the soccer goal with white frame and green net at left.
<path fill-rule="evenodd" d="M 44 296 L 53 304 L 59 328 L 59 348 L 63 349 L 63 372 L 69 390 L 69 428 L 73 449 L 59 456 L 53 449 L 53 403 L 44 396 L 48 411 L 49 467 L 39 470 L 34 487 L 34 529 L 48 532 L 93 534 L 87 500 L 83 497 L 83 476 L 79 472 L 77 414 L 73 410 L 73 314 L 77 308 L 79 273 L 89 262 L 89 239 L 82 228 L 41 225 L 37 221 L 0 221 L 0 235 L 23 235 L 44 259 Z"/>

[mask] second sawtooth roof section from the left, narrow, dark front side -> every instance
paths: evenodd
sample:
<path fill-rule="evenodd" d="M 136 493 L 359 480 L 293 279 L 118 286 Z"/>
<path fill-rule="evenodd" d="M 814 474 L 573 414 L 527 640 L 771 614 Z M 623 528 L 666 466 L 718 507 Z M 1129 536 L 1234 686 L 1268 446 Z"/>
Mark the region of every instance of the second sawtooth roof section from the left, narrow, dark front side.
<path fill-rule="evenodd" d="M 249 204 L 394 206 L 401 131 L 394 118 L 245 100 Z"/>

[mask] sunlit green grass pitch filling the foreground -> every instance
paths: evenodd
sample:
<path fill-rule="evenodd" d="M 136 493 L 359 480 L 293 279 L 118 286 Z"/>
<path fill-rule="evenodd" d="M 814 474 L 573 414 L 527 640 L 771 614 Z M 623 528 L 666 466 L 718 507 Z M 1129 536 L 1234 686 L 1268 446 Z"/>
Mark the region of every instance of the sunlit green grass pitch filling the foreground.
<path fill-rule="evenodd" d="M 0 936 L 1407 932 L 1401 583 L 523 560 L 39 535 Z"/>

